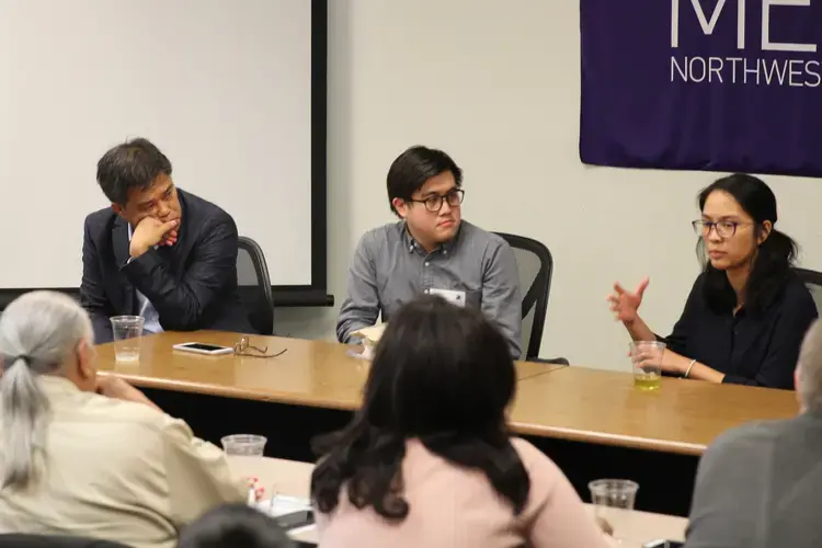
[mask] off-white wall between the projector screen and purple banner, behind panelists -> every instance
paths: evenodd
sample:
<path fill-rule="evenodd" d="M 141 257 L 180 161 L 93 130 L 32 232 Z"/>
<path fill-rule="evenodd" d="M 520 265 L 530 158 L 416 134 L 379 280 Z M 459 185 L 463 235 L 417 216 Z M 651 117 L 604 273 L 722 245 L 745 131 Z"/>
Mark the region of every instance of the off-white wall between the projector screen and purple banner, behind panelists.
<path fill-rule="evenodd" d="M 541 240 L 556 270 L 541 354 L 625 368 L 614 281 L 651 276 L 642 312 L 665 333 L 698 272 L 689 222 L 713 174 L 586 168 L 578 155 L 579 3 L 329 2 L 329 276 L 338 307 L 359 235 L 390 221 L 385 174 L 414 144 L 465 170 L 464 215 Z M 752 113 L 755 115 L 755 113 Z M 822 269 L 822 182 L 767 176 L 777 225 Z M 279 310 L 277 329 L 333 338 L 336 309 Z"/>

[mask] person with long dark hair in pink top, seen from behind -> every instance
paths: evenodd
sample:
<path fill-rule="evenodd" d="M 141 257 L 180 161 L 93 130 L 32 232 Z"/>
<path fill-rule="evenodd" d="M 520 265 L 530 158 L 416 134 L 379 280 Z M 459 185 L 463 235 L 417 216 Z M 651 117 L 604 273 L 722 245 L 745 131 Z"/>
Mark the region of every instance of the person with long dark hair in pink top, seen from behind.
<path fill-rule="evenodd" d="M 562 471 L 512 437 L 516 372 L 484 317 L 442 297 L 400 309 L 362 408 L 318 438 L 321 548 L 598 548 L 610 545 Z"/>

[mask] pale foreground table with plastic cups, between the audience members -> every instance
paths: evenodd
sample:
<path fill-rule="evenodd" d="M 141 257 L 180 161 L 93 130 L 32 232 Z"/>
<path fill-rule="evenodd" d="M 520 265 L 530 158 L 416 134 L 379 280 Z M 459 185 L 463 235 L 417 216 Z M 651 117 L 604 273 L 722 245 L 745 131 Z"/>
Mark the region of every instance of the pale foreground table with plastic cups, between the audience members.
<path fill-rule="evenodd" d="M 229 457 L 235 473 L 253 476 L 260 480 L 266 492 L 272 488 L 277 493 L 308 498 L 310 494 L 313 465 L 266 457 Z M 593 507 L 589 506 L 593 514 Z M 685 538 L 687 520 L 678 516 L 650 514 L 648 512 L 612 512 L 608 518 L 615 535 L 621 540 L 620 548 L 639 548 L 651 540 L 680 540 Z M 317 543 L 313 528 L 302 529 L 293 535 L 296 540 Z"/>

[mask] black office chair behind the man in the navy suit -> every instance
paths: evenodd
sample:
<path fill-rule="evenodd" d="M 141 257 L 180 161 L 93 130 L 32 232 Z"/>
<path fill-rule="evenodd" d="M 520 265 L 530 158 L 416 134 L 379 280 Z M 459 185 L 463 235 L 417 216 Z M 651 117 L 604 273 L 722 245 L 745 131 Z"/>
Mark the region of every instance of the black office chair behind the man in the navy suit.
<path fill-rule="evenodd" d="M 254 331 L 270 335 L 274 333 L 274 297 L 265 255 L 251 238 L 241 236 L 237 243 L 237 284 L 242 305 Z"/>

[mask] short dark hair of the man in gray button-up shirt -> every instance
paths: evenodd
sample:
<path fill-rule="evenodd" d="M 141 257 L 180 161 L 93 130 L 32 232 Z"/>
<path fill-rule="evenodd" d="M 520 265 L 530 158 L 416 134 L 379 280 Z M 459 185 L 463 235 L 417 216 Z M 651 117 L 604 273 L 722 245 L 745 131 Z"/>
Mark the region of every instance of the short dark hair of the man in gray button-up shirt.
<path fill-rule="evenodd" d="M 452 172 L 457 186 L 463 186 L 463 170 L 442 150 L 418 145 L 402 152 L 391 163 L 386 178 L 391 210 L 397 214 L 393 198 L 408 202 L 425 181 L 446 171 Z"/>

